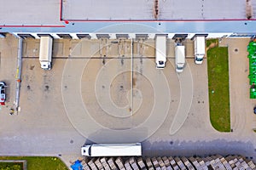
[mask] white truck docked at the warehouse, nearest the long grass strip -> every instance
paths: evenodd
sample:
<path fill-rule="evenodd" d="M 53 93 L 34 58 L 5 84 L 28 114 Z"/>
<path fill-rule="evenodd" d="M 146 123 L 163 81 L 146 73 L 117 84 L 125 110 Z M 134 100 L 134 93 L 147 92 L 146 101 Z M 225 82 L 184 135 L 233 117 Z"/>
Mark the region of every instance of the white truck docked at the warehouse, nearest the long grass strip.
<path fill-rule="evenodd" d="M 206 54 L 206 37 L 198 36 L 194 40 L 195 64 L 201 65 Z"/>

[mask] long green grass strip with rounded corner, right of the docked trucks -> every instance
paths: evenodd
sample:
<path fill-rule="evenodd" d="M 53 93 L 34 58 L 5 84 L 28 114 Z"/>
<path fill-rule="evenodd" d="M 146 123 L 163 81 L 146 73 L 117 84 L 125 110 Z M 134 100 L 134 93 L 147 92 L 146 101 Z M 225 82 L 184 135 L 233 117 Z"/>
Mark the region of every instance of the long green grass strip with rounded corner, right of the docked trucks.
<path fill-rule="evenodd" d="M 207 46 L 218 40 L 207 40 Z M 228 48 L 207 50 L 208 89 L 212 127 L 219 132 L 230 132 L 230 93 Z"/>

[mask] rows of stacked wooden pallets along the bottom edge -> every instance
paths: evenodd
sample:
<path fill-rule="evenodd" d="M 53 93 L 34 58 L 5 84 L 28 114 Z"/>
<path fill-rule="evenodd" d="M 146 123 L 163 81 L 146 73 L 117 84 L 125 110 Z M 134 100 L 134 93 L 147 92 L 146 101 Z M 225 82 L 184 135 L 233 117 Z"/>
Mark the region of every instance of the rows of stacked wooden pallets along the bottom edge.
<path fill-rule="evenodd" d="M 207 169 L 247 169 L 255 170 L 253 161 L 242 156 L 207 157 L 98 157 L 84 162 L 85 170 L 207 170 Z M 86 163 L 87 162 L 87 163 Z"/>

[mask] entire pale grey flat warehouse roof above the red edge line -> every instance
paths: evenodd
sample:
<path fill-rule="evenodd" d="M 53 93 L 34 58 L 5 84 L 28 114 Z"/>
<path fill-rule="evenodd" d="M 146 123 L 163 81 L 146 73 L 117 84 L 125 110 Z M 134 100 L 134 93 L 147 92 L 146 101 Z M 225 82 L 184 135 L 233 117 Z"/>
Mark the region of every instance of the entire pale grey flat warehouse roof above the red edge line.
<path fill-rule="evenodd" d="M 61 26 L 64 20 L 247 20 L 248 13 L 254 20 L 256 1 L 10 0 L 0 7 L 0 25 Z"/>

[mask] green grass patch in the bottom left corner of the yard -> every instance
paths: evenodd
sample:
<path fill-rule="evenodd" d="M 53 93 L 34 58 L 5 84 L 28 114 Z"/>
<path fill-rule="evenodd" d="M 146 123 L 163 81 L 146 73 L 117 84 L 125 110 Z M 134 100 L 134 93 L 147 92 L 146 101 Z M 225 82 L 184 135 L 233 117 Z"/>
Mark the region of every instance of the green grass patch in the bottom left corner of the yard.
<path fill-rule="evenodd" d="M 28 170 L 67 170 L 66 165 L 57 157 L 0 156 L 0 160 L 26 160 Z"/>

